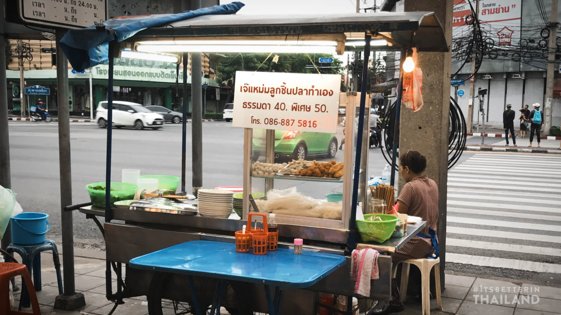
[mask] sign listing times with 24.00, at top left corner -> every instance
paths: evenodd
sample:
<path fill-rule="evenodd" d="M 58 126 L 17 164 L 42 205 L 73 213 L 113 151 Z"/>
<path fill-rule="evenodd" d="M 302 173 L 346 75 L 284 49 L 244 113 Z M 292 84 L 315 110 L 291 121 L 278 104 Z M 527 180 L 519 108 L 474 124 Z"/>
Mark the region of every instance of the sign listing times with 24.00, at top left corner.
<path fill-rule="evenodd" d="M 16 0 L 11 0 L 16 1 Z M 106 0 L 18 0 L 24 22 L 83 28 L 106 20 Z"/>

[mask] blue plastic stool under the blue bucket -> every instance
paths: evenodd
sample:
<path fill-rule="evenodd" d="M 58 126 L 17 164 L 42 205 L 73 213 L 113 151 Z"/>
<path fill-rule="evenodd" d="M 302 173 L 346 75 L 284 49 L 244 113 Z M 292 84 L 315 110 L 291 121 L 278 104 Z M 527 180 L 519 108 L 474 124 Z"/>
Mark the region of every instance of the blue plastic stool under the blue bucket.
<path fill-rule="evenodd" d="M 44 251 L 53 251 L 53 262 L 54 262 L 54 269 L 57 271 L 57 283 L 58 283 L 58 293 L 62 294 L 62 276 L 61 276 L 61 263 L 58 259 L 58 250 L 57 245 L 50 239 L 45 239 L 43 243 L 37 245 L 29 245 L 29 246 L 22 246 L 22 245 L 15 245 L 10 244 L 8 248 L 6 248 L 6 252 L 8 253 L 19 253 L 22 262 L 25 266 L 27 266 L 27 270 L 29 274 L 33 276 L 33 284 L 35 287 L 35 291 L 41 290 L 41 252 Z M 24 307 L 29 307 L 29 298 L 27 294 L 25 294 L 25 284 L 22 283 L 22 292 L 21 292 L 21 301 Z"/>

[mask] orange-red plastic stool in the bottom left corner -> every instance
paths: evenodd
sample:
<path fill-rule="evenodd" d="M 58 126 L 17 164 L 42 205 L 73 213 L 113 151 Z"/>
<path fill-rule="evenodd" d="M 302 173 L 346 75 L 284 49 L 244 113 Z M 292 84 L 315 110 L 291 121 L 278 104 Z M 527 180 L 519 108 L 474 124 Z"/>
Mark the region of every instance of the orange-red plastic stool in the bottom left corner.
<path fill-rule="evenodd" d="M 15 276 L 22 276 L 27 287 L 27 292 L 29 293 L 29 299 L 31 301 L 31 306 L 33 307 L 33 313 L 12 311 L 10 308 L 10 285 L 8 283 Z M 37 300 L 37 295 L 35 295 L 35 289 L 33 287 L 33 281 L 31 281 L 31 275 L 27 271 L 27 267 L 23 264 L 16 264 L 15 262 L 2 262 L 0 264 L 0 305 L 4 304 L 4 314 L 6 315 L 19 315 L 19 314 L 33 314 L 41 315 L 41 310 L 39 309 L 39 302 Z M 2 309 L 0 309 L 2 311 Z"/>

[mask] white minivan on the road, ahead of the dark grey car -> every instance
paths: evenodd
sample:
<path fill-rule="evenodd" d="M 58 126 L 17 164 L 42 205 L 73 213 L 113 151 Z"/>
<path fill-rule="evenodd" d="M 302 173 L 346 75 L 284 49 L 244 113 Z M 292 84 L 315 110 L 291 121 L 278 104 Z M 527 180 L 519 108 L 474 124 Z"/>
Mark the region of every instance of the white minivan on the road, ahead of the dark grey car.
<path fill-rule="evenodd" d="M 107 128 L 107 101 L 99 102 L 98 108 L 95 110 L 95 117 L 99 128 Z M 140 104 L 114 101 L 113 125 L 117 128 L 131 126 L 135 129 L 159 129 L 164 125 L 164 116 Z"/>

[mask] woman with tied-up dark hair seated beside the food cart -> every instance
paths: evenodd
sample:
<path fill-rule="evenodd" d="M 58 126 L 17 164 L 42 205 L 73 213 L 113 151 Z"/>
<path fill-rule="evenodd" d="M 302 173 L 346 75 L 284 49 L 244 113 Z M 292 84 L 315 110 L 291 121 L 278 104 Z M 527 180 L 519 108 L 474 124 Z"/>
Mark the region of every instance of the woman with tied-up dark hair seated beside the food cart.
<path fill-rule="evenodd" d="M 426 158 L 417 151 L 409 151 L 399 156 L 399 175 L 407 182 L 401 188 L 397 203 L 399 213 L 405 213 L 425 220 L 426 226 L 402 248 L 392 254 L 393 264 L 407 259 L 438 257 L 438 187 L 422 172 L 426 168 Z M 413 269 L 411 270 L 413 271 Z M 410 275 L 410 279 L 416 278 Z M 420 274 L 419 274 L 420 280 Z M 419 290 L 420 292 L 420 290 Z M 396 281 L 392 281 L 392 299 L 389 303 L 380 302 L 370 314 L 391 314 L 403 311 Z"/>

